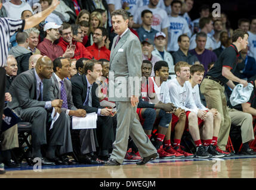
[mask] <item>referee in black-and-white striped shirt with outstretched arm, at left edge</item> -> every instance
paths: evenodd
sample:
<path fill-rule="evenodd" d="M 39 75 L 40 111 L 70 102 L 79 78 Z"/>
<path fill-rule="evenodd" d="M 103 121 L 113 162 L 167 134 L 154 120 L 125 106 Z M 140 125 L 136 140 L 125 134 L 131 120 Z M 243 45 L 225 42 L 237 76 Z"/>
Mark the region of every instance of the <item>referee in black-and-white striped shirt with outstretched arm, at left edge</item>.
<path fill-rule="evenodd" d="M 35 14 L 26 20 L 12 20 L 10 18 L 0 18 L 0 116 L 4 111 L 4 101 L 5 101 L 5 69 L 7 66 L 7 56 L 8 47 L 10 42 L 10 36 L 12 36 L 17 31 L 22 31 L 23 29 L 30 29 L 33 26 L 41 23 L 45 18 L 54 11 L 60 2 L 58 0 L 53 0 L 53 3 L 48 9 L 45 9 L 39 14 Z M 2 0 L 0 0 L 0 9 L 2 8 Z M 2 122 L 0 122 L 1 131 Z M 0 163 L 0 174 L 5 173 L 4 167 L 1 167 Z"/>

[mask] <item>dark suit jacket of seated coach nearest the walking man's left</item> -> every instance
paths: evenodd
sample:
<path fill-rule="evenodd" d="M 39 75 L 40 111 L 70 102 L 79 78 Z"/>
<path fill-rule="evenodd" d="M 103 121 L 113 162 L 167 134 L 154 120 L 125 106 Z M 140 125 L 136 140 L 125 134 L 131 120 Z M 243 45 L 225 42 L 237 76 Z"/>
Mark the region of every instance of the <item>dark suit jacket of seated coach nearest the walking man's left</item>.
<path fill-rule="evenodd" d="M 96 96 L 96 89 L 98 85 L 96 83 L 92 84 L 91 88 L 91 101 L 92 107 L 84 106 L 84 102 L 87 96 L 87 79 L 85 75 L 81 75 L 78 77 L 71 78 L 72 83 L 72 96 L 73 96 L 73 103 L 78 109 L 84 109 L 87 113 L 98 113 L 98 109 L 102 109 L 103 107 L 100 106 L 100 101 Z"/>

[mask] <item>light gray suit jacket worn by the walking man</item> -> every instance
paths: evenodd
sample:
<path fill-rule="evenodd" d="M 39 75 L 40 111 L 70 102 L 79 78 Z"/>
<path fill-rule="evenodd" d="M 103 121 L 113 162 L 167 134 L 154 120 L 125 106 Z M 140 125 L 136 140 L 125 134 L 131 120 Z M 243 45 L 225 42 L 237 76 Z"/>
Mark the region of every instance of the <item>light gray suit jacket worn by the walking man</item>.
<path fill-rule="evenodd" d="M 114 48 L 117 37 L 110 53 L 109 101 L 129 102 L 131 95 L 140 96 L 142 50 L 140 40 L 129 29 Z M 128 83 L 129 77 L 137 77 L 138 83 Z"/>

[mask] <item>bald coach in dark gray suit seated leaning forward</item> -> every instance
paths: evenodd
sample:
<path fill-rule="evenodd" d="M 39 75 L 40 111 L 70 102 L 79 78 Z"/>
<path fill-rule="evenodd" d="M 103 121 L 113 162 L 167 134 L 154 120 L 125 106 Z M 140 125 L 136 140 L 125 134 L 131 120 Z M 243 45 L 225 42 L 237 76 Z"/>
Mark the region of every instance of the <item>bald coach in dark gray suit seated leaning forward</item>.
<path fill-rule="evenodd" d="M 32 124 L 32 149 L 33 157 L 40 157 L 42 164 L 62 164 L 55 157 L 57 146 L 61 147 L 64 140 L 65 115 L 61 113 L 62 100 L 51 101 L 48 95 L 53 74 L 53 62 L 47 56 L 38 59 L 35 69 L 22 72 L 18 75 L 9 88 L 13 100 L 8 103 L 24 122 Z M 55 108 L 55 114 L 60 116 L 55 121 L 53 128 L 47 127 L 49 115 Z M 46 159 L 42 157 L 41 145 L 47 144 Z M 66 163 L 64 163 L 66 164 Z"/>

